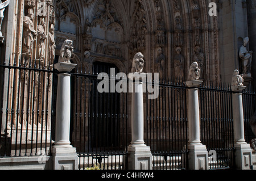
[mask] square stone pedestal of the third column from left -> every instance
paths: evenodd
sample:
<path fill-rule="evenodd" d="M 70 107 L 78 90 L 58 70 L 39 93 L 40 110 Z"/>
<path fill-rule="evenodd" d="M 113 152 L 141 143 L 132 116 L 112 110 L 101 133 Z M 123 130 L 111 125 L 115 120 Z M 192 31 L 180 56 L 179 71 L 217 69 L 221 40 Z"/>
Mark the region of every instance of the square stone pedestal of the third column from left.
<path fill-rule="evenodd" d="M 208 170 L 208 151 L 205 145 L 188 146 L 188 169 Z"/>

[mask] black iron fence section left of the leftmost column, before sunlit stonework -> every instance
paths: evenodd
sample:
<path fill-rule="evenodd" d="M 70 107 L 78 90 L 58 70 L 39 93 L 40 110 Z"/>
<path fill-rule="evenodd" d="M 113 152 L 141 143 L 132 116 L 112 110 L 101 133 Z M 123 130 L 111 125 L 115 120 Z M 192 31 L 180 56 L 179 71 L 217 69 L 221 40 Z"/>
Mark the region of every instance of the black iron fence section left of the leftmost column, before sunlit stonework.
<path fill-rule="evenodd" d="M 1 157 L 51 153 L 53 66 L 31 58 L 0 65 Z"/>

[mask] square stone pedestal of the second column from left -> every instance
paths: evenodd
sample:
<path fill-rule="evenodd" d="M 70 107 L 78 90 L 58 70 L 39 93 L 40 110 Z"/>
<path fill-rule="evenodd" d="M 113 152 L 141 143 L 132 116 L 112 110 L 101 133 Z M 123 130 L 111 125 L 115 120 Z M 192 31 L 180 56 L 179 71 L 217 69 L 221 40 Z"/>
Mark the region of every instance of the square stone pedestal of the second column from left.
<path fill-rule="evenodd" d="M 128 170 L 152 170 L 152 154 L 149 146 L 128 147 Z"/>

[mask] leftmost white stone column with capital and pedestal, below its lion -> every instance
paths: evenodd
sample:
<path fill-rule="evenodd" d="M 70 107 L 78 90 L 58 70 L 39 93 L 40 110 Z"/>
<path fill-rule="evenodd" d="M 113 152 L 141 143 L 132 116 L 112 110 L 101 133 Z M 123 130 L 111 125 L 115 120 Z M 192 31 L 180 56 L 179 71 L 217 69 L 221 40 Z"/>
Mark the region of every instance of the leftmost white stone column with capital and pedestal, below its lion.
<path fill-rule="evenodd" d="M 77 170 L 76 149 L 69 140 L 71 116 L 71 74 L 76 64 L 59 62 L 55 69 L 59 71 L 57 85 L 55 145 L 52 148 L 54 170 Z"/>

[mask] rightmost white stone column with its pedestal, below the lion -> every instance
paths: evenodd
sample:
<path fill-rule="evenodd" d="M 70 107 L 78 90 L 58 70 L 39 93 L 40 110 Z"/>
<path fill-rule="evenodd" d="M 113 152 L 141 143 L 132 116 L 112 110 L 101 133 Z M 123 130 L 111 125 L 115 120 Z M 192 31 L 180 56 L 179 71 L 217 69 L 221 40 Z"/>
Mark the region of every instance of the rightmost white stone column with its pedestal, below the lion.
<path fill-rule="evenodd" d="M 233 127 L 236 169 L 249 170 L 252 165 L 252 149 L 245 142 L 242 91 L 245 86 L 232 86 Z"/>

